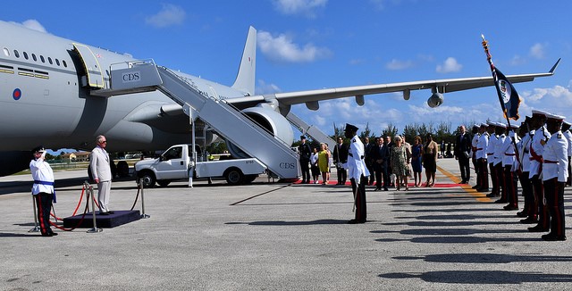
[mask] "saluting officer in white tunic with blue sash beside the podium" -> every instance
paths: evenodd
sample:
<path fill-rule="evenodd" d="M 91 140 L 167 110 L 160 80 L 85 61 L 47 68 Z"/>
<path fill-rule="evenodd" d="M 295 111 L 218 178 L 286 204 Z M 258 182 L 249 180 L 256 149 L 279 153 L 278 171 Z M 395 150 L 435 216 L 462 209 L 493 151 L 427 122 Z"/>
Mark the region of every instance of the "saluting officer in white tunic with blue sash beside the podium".
<path fill-rule="evenodd" d="M 29 170 L 34 179 L 32 195 L 38 207 L 38 224 L 42 237 L 54 237 L 57 233 L 50 228 L 50 212 L 52 201 L 55 201 L 54 172 L 50 164 L 45 161 L 46 150 L 38 146 L 32 150 L 34 159 L 29 162 Z"/>

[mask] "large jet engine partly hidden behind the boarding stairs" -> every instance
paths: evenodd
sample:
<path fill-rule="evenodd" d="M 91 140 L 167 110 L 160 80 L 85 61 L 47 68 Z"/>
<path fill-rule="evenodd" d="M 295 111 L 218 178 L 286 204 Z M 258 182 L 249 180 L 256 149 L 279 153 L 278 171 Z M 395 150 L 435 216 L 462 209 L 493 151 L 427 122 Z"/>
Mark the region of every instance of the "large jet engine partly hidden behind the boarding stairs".
<path fill-rule="evenodd" d="M 275 112 L 272 108 L 265 105 L 258 105 L 256 107 L 250 107 L 242 110 L 242 113 L 246 114 L 257 124 L 268 130 L 274 137 L 281 140 L 284 145 L 290 146 L 294 140 L 294 131 L 290 125 L 290 122 L 286 120 L 282 114 Z M 244 153 L 238 146 L 233 145 L 228 140 L 226 141 L 226 147 L 229 153 L 235 158 L 248 158 L 248 154 Z"/>

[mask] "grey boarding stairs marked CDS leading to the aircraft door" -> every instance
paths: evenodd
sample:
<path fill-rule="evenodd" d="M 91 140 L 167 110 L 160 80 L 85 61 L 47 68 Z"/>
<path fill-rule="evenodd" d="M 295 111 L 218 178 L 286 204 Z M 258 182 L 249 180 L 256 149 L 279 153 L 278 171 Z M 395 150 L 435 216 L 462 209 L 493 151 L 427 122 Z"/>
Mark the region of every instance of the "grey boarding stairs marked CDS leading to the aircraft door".
<path fill-rule="evenodd" d="M 224 139 L 244 153 L 257 158 L 280 179 L 298 179 L 299 155 L 282 140 L 257 125 L 224 100 L 209 93 L 175 72 L 154 62 L 130 62 L 127 68 L 111 71 L 111 85 L 92 95 L 116 96 L 159 90 L 183 107 L 191 121 L 200 118 Z"/>

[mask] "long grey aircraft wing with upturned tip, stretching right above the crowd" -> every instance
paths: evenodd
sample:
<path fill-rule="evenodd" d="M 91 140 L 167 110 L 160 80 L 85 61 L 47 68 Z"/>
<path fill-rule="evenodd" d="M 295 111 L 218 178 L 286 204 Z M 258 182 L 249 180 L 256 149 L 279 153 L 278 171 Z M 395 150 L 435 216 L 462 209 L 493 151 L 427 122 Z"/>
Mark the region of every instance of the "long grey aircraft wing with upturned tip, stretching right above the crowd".
<path fill-rule="evenodd" d="M 552 66 L 551 71 L 546 73 L 510 75 L 507 76 L 507 78 L 511 83 L 520 83 L 530 82 L 534 80 L 534 78 L 552 76 L 559 62 L 560 60 L 558 60 L 558 62 Z M 234 104 L 237 107 L 243 107 L 264 102 L 268 98 L 275 98 L 283 105 L 306 103 L 309 109 L 317 109 L 317 104 L 313 106 L 312 103 L 349 96 L 366 96 L 381 93 L 404 92 L 404 97 L 408 99 L 408 94 L 412 90 L 432 89 L 437 90 L 439 93 L 449 93 L 489 86 L 493 86 L 492 76 L 460 79 L 434 79 L 403 83 L 365 85 L 357 87 L 334 87 L 289 93 L 275 93 L 270 96 L 245 96 L 227 99 L 227 102 Z"/>

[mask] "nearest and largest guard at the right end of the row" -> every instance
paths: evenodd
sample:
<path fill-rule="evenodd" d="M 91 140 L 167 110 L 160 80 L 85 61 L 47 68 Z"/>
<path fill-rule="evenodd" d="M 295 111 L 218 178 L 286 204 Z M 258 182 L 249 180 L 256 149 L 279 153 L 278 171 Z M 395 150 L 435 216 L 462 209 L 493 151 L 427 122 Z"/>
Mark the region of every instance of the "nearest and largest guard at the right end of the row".
<path fill-rule="evenodd" d="M 548 114 L 546 127 L 551 138 L 544 145 L 543 184 L 546 207 L 550 212 L 550 233 L 543 240 L 566 240 L 564 187 L 568 179 L 568 140 L 560 127 L 564 116 Z"/>

